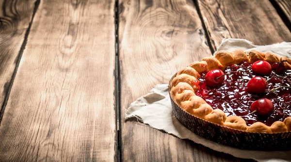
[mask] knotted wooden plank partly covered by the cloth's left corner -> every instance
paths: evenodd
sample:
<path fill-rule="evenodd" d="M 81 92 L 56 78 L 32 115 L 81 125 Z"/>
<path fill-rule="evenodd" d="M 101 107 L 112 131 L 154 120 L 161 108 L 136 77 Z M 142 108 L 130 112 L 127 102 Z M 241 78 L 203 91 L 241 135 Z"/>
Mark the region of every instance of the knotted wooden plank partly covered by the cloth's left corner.
<path fill-rule="evenodd" d="M 124 121 L 124 110 L 156 84 L 210 56 L 192 0 L 120 0 L 121 157 L 137 162 L 236 161 L 172 135 Z"/>

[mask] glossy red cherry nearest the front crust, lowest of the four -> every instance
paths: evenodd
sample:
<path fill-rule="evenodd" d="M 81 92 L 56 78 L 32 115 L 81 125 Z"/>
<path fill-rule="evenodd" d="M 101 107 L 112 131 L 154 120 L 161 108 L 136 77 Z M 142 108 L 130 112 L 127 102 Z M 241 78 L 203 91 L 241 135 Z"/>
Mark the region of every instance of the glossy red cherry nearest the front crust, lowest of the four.
<path fill-rule="evenodd" d="M 261 116 L 271 115 L 274 111 L 274 104 L 270 99 L 260 98 L 251 105 L 251 112 L 256 110 Z"/>

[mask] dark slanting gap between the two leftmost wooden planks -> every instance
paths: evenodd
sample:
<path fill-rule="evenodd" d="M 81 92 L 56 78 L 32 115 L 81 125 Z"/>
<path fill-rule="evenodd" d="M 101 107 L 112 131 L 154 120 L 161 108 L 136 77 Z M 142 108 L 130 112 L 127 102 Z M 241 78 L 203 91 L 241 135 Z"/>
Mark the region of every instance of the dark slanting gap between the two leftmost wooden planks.
<path fill-rule="evenodd" d="M 7 89 L 7 93 L 6 93 L 6 96 L 5 96 L 3 105 L 2 105 L 2 109 L 0 109 L 0 125 L 1 125 L 1 121 L 2 121 L 2 118 L 3 118 L 4 112 L 5 112 L 5 107 L 7 105 L 7 101 L 8 101 L 9 96 L 10 96 L 11 88 L 12 88 L 12 85 L 13 85 L 13 82 L 14 82 L 14 79 L 15 79 L 15 76 L 16 76 L 16 73 L 17 73 L 17 70 L 18 70 L 18 66 L 19 66 L 19 63 L 21 61 L 21 57 L 22 57 L 23 51 L 24 51 L 25 46 L 26 46 L 26 43 L 27 43 L 28 35 L 29 35 L 29 32 L 30 32 L 31 27 L 32 27 L 33 18 L 34 18 L 35 13 L 36 13 L 36 11 L 38 9 L 39 3 L 40 3 L 40 0 L 36 0 L 34 2 L 34 8 L 33 8 L 33 13 L 32 13 L 32 18 L 31 18 L 31 21 L 29 23 L 29 26 L 28 26 L 28 28 L 27 28 L 27 30 L 25 32 L 23 43 L 22 43 L 22 45 L 21 45 L 21 47 L 19 49 L 19 53 L 18 53 L 18 56 L 16 58 L 15 69 L 14 69 L 13 75 L 11 77 L 10 84 L 8 86 L 8 89 Z"/>

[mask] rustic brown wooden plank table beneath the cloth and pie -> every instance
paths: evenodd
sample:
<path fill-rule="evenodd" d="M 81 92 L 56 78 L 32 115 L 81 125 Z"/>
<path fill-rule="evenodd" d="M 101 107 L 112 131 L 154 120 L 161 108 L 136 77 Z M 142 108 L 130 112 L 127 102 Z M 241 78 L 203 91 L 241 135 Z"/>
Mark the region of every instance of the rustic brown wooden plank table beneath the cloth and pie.
<path fill-rule="evenodd" d="M 243 161 L 124 120 L 223 38 L 291 41 L 291 0 L 0 0 L 0 161 Z"/>

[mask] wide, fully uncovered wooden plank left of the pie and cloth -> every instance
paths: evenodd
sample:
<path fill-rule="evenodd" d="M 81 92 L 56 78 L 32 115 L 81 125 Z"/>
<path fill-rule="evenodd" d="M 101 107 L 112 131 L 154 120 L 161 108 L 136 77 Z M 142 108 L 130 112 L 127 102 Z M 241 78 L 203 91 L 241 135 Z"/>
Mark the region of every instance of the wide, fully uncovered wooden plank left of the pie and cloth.
<path fill-rule="evenodd" d="M 42 0 L 0 125 L 0 161 L 114 161 L 114 0 Z"/>

